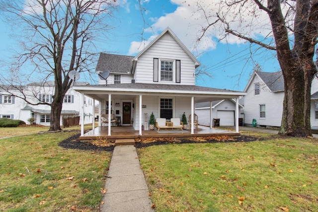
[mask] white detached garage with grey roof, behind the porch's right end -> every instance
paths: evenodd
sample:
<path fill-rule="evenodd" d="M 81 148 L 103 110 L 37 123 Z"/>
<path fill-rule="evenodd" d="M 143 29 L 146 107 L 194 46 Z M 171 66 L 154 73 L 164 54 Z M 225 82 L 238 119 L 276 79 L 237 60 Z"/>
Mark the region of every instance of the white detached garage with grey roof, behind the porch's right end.
<path fill-rule="evenodd" d="M 195 114 L 198 116 L 199 125 L 210 126 L 212 117 L 212 125 L 215 124 L 214 119 L 219 119 L 220 126 L 235 126 L 235 107 L 235 99 L 212 101 L 212 107 L 211 102 L 201 102 L 195 104 Z M 239 110 L 242 109 L 239 104 Z M 239 113 L 239 118 L 244 118 L 243 114 Z"/>

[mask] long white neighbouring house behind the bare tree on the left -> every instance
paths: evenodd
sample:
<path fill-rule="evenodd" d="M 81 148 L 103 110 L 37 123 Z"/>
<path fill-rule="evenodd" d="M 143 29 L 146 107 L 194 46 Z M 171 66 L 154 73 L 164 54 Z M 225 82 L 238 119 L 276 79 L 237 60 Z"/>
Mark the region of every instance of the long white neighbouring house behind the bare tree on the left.
<path fill-rule="evenodd" d="M 75 82 L 75 85 L 86 85 L 86 82 Z M 30 83 L 26 86 L 21 86 L 23 94 L 32 103 L 52 102 L 52 94 L 54 93 L 54 81 L 45 83 Z M 9 118 L 22 120 L 28 124 L 28 119 L 33 117 L 36 124 L 50 125 L 51 107 L 49 105 L 31 105 L 23 99 L 13 96 L 21 96 L 21 92 L 12 86 L 6 86 L 6 89 L 0 90 L 0 118 Z M 73 89 L 73 86 L 65 95 L 62 112 L 61 125 L 64 117 L 75 117 L 83 114 L 83 123 L 92 123 L 94 115 L 93 100 L 85 96 L 82 100 L 82 95 Z"/>

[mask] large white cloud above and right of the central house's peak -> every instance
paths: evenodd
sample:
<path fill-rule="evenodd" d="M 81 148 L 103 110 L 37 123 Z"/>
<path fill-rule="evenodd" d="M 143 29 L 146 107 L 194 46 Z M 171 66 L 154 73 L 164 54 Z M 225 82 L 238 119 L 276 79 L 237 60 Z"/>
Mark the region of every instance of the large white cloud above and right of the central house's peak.
<path fill-rule="evenodd" d="M 186 47 L 197 54 L 215 49 L 219 40 L 221 40 L 220 42 L 222 43 L 230 44 L 245 43 L 245 40 L 235 36 L 228 36 L 224 39 L 225 31 L 220 22 L 218 22 L 219 25 L 215 25 L 213 28 L 210 27 L 210 29 L 205 32 L 205 36 L 200 39 L 200 42 L 197 42 L 198 37 L 202 34 L 202 28 L 208 25 L 205 16 L 209 16 L 208 21 L 212 23 L 216 20 L 215 15 L 217 12 L 220 12 L 220 8 L 225 8 L 220 5 L 220 2 L 219 0 L 171 0 L 171 3 L 176 4 L 177 8 L 173 12 L 160 17 L 151 17 L 150 20 L 155 21 L 155 23 L 151 28 L 146 29 L 146 31 L 159 34 L 166 27 L 170 27 Z M 199 4 L 197 3 L 210 13 L 203 13 L 202 10 L 198 10 L 197 5 Z M 231 28 L 238 30 L 238 32 L 245 36 L 253 38 L 259 35 L 264 37 L 268 36 L 271 34 L 269 19 L 266 13 L 260 11 L 258 8 L 256 8 L 257 13 L 253 13 L 251 10 L 255 6 L 255 4 L 250 3 L 250 6 L 245 7 L 245 10 L 234 7 L 231 10 L 223 10 L 221 14 L 226 14 L 228 18 L 234 20 L 231 22 Z M 239 21 L 239 18 L 243 18 L 244 22 Z M 149 43 L 150 40 L 147 42 Z M 137 45 L 138 43 L 139 45 Z M 140 51 L 140 42 L 132 42 L 129 50 L 130 54 Z"/>

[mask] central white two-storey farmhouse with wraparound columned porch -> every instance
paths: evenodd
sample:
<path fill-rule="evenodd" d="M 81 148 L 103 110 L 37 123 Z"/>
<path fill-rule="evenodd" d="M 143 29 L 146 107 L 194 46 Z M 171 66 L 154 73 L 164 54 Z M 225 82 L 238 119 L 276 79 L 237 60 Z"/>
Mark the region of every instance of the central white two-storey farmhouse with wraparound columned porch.
<path fill-rule="evenodd" d="M 245 95 L 240 91 L 196 86 L 195 69 L 199 66 L 198 60 L 166 28 L 135 57 L 100 54 L 96 73 L 109 71 L 107 84 L 100 77 L 98 85 L 76 86 L 74 89 L 98 100 L 100 113 L 108 111 L 111 118 L 110 113 L 114 111 L 121 125 L 132 123 L 142 135 L 142 126 L 148 129 L 152 112 L 155 118 L 181 119 L 184 112 L 187 117 L 193 115 L 195 103 L 238 99 Z M 239 104 L 236 108 L 239 113 Z M 108 129 L 110 136 L 111 126 Z"/>

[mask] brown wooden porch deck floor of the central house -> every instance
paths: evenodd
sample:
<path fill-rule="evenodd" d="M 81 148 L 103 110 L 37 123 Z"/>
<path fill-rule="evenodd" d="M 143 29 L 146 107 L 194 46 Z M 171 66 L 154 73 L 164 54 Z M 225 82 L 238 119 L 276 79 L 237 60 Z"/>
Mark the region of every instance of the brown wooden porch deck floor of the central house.
<path fill-rule="evenodd" d="M 239 133 L 227 130 L 221 130 L 217 128 L 209 128 L 205 126 L 199 126 L 197 130 L 194 130 L 194 134 L 191 134 L 190 129 L 187 130 L 144 130 L 142 136 L 139 135 L 138 130 L 134 130 L 131 126 L 111 127 L 111 136 L 108 136 L 108 127 L 96 127 L 79 137 L 79 140 L 95 140 L 95 139 L 136 139 L 136 138 L 191 138 L 200 136 L 239 136 Z"/>

